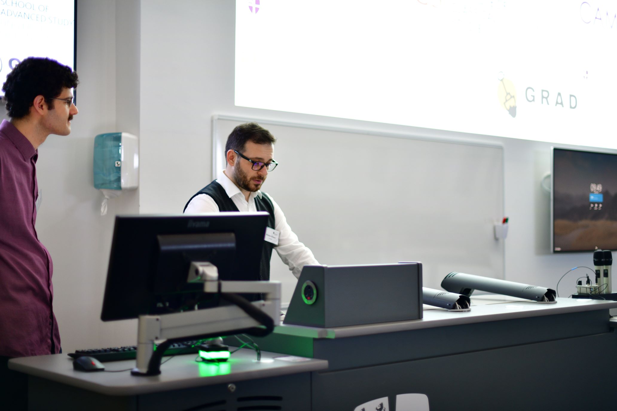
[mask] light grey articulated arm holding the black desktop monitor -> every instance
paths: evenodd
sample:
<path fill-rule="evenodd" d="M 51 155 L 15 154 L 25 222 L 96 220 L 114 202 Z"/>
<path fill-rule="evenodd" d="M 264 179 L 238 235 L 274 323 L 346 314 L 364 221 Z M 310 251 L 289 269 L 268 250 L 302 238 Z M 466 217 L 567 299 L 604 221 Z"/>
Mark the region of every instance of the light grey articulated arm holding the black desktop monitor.
<path fill-rule="evenodd" d="M 205 293 L 262 293 L 262 301 L 253 306 L 265 312 L 279 325 L 281 312 L 281 283 L 276 281 L 222 281 L 218 269 L 209 262 L 192 262 L 188 282 L 203 282 Z M 260 324 L 238 306 L 176 312 L 161 315 L 139 315 L 137 364 L 133 375 L 158 375 L 150 360 L 155 340 L 173 340 L 203 335 L 230 335 L 230 332 L 258 327 Z"/>

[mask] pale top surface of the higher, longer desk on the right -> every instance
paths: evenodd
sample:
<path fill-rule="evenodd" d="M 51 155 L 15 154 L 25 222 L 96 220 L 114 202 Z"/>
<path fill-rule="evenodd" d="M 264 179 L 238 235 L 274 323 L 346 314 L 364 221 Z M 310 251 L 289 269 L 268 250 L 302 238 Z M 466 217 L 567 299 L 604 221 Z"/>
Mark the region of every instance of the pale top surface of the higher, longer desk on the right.
<path fill-rule="evenodd" d="M 424 309 L 424 318 L 420 320 L 350 325 L 349 327 L 332 328 L 283 324 L 275 327 L 275 333 L 311 338 L 347 338 L 360 335 L 418 330 L 421 328 L 447 327 L 449 325 L 566 314 L 568 312 L 594 311 L 600 309 L 608 310 L 611 308 L 617 308 L 617 301 L 557 298 L 557 303 L 544 304 L 502 295 L 479 295 L 471 297 L 471 311 L 448 311 L 446 309 L 429 306 L 428 309 Z"/>

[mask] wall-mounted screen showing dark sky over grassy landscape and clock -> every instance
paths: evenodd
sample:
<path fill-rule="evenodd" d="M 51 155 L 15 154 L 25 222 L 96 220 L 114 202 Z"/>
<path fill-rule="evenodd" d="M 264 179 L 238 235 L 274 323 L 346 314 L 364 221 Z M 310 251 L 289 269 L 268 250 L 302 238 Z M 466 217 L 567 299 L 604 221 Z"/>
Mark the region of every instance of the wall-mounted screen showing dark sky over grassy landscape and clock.
<path fill-rule="evenodd" d="M 617 250 L 617 153 L 553 147 L 553 253 Z"/>

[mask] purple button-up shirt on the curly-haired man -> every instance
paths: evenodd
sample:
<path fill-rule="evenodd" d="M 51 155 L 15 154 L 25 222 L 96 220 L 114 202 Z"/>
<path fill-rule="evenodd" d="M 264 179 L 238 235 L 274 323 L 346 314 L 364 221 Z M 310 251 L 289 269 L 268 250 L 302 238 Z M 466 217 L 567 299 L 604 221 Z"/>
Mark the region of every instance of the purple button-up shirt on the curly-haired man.
<path fill-rule="evenodd" d="M 51 256 L 36 236 L 38 152 L 9 121 L 0 124 L 0 356 L 55 354 Z"/>

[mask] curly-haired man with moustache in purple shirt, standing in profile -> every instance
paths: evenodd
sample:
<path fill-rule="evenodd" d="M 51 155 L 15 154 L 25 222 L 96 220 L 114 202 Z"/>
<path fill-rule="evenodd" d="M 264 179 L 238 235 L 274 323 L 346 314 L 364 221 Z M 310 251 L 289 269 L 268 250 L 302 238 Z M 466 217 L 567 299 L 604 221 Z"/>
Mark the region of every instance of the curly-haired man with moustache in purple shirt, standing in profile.
<path fill-rule="evenodd" d="M 49 134 L 71 132 L 77 84 L 70 67 L 28 57 L 2 86 L 10 121 L 0 124 L 0 394 L 11 410 L 25 409 L 28 386 L 25 375 L 7 368 L 8 360 L 61 351 L 53 264 L 35 229 L 36 159 Z"/>

